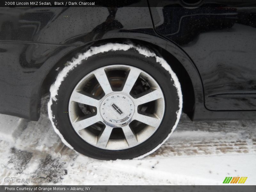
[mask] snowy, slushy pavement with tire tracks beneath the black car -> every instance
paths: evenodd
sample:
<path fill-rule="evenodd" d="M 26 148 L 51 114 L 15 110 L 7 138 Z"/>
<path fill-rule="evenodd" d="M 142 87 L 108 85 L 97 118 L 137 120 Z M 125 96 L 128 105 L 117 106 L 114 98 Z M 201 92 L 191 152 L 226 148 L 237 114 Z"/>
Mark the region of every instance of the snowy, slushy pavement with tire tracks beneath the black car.
<path fill-rule="evenodd" d="M 101 161 L 61 142 L 47 102 L 45 97 L 38 122 L 0 115 L 1 185 L 26 184 L 5 183 L 6 177 L 56 178 L 62 185 L 221 185 L 225 177 L 248 177 L 242 185 L 256 184 L 256 121 L 191 122 L 182 114 L 171 137 L 153 154 Z"/>

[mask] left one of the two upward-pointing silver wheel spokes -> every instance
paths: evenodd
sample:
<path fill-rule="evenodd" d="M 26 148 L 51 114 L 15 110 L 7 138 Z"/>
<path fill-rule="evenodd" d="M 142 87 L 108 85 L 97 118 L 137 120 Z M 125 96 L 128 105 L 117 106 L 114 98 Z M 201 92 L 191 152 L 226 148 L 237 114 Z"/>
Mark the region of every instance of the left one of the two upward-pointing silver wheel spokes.
<path fill-rule="evenodd" d="M 95 77 L 97 78 L 101 88 L 107 95 L 108 93 L 112 92 L 112 88 L 109 84 L 108 77 L 106 75 L 106 72 L 104 68 L 97 69 L 95 72 L 93 72 Z"/>

